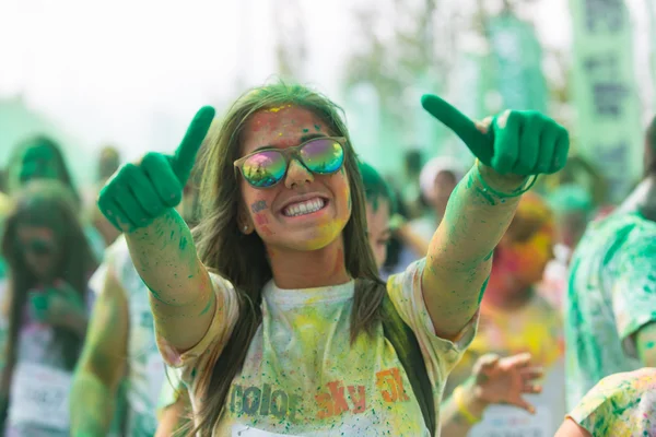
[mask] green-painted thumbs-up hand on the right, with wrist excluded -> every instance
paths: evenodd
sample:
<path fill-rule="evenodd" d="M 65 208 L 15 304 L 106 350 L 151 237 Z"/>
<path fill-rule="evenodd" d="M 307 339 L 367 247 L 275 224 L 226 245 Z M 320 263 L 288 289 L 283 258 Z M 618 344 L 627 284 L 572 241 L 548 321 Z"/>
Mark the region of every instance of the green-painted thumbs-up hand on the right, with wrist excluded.
<path fill-rule="evenodd" d="M 460 137 L 481 163 L 501 175 L 551 174 L 567 161 L 567 130 L 540 113 L 507 110 L 494 117 L 488 129 L 436 95 L 422 96 L 421 104 Z"/>

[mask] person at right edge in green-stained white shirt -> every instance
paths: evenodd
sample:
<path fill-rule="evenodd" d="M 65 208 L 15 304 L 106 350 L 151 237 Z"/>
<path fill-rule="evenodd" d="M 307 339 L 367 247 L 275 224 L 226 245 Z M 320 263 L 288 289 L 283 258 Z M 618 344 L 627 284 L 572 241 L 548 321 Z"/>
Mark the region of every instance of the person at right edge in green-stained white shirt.
<path fill-rule="evenodd" d="M 600 379 L 656 367 L 656 118 L 644 162 L 644 180 L 614 212 L 588 225 L 570 263 L 569 411 Z"/>

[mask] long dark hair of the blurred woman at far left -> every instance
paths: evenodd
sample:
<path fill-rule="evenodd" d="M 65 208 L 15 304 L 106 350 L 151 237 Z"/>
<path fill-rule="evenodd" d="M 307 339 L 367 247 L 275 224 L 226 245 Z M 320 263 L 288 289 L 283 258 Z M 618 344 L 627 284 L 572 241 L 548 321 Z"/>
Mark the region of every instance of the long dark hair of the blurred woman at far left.
<path fill-rule="evenodd" d="M 4 223 L 1 243 L 2 257 L 9 268 L 9 332 L 3 386 L 11 380 L 15 364 L 27 292 L 38 285 L 38 279 L 25 262 L 23 248 L 17 240 L 17 228 L 28 225 L 52 229 L 59 249 L 59 263 L 55 269 L 59 272 L 59 277 L 71 285 L 79 293 L 80 300 L 84 302 L 89 275 L 97 265 L 78 220 L 77 210 L 75 199 L 68 187 L 55 180 L 33 180 L 15 196 L 13 210 Z M 72 370 L 75 366 L 83 341 L 83 338 L 67 329 L 55 328 L 55 344 L 61 347 L 67 369 Z M 8 387 L 2 389 L 7 390 Z"/>

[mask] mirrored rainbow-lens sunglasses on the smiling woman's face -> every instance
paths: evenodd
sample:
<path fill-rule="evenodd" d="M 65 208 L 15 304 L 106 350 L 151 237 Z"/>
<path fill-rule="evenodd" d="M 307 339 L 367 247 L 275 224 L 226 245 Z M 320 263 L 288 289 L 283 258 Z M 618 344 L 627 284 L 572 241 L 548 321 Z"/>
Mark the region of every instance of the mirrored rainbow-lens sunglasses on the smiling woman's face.
<path fill-rule="evenodd" d="M 273 187 L 286 175 L 292 158 L 317 175 L 330 175 L 344 163 L 345 138 L 321 137 L 294 147 L 267 147 L 253 152 L 234 162 L 242 176 L 255 188 Z"/>

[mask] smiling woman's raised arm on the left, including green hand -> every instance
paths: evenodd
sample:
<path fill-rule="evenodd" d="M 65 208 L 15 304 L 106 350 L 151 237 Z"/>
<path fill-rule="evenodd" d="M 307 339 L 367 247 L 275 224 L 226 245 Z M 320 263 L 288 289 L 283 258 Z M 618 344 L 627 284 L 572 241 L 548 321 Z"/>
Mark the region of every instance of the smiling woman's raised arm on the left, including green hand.
<path fill-rule="evenodd" d="M 132 262 L 151 292 L 157 334 L 177 352 L 202 339 L 216 305 L 189 227 L 174 210 L 213 117 L 214 109 L 201 108 L 174 155 L 148 153 L 124 165 L 98 197 L 103 214 L 126 234 Z"/>

